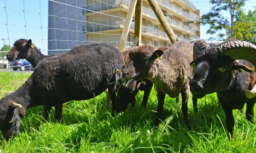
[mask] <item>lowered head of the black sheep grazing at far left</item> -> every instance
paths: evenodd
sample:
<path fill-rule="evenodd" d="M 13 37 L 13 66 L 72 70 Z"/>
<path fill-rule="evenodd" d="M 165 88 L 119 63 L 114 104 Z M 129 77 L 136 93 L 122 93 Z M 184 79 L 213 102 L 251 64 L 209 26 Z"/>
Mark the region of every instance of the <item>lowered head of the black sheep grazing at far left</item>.
<path fill-rule="evenodd" d="M 24 108 L 12 100 L 0 100 L 0 130 L 8 140 L 17 136 Z"/>

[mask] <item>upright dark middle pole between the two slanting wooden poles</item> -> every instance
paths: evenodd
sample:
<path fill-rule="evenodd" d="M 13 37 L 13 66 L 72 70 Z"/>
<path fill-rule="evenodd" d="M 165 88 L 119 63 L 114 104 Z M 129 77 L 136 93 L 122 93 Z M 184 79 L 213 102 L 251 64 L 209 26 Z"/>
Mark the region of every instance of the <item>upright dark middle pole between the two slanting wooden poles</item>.
<path fill-rule="evenodd" d="M 134 44 L 133 44 L 133 47 L 140 45 L 140 42 L 141 42 L 141 24 L 142 24 L 142 0 L 137 0 L 136 7 L 135 7 Z"/>

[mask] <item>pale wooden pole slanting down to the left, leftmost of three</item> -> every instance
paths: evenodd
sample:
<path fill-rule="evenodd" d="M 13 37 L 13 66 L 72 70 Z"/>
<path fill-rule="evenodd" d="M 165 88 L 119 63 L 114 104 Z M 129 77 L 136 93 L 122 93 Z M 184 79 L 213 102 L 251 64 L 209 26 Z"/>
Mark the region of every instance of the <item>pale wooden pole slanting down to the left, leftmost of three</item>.
<path fill-rule="evenodd" d="M 118 46 L 118 49 L 121 52 L 125 51 L 125 43 L 126 43 L 126 40 L 127 40 L 127 36 L 128 36 L 130 26 L 131 26 L 131 19 L 134 15 L 135 6 L 136 6 L 135 4 L 136 3 L 137 3 L 137 0 L 131 0 L 130 6 L 129 6 L 129 9 L 128 9 L 128 13 L 127 13 L 126 20 L 125 20 L 125 25 L 124 25 L 124 28 L 122 30 L 122 35 L 121 35 L 119 46 Z"/>

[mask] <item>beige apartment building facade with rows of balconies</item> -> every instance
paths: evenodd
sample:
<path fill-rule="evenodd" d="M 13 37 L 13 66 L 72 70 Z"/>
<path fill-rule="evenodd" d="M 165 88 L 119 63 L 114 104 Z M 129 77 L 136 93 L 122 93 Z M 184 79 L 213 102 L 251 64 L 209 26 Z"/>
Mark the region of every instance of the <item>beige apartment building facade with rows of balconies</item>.
<path fill-rule="evenodd" d="M 107 42 L 118 47 L 128 13 L 130 0 L 87 0 L 83 14 L 87 18 L 83 33 L 87 41 Z M 189 0 L 157 0 L 178 41 L 189 42 L 200 37 L 200 11 Z M 131 23 L 126 48 L 134 41 L 134 21 Z M 171 41 L 157 20 L 154 11 L 143 0 L 142 43 L 155 47 L 170 46 Z"/>

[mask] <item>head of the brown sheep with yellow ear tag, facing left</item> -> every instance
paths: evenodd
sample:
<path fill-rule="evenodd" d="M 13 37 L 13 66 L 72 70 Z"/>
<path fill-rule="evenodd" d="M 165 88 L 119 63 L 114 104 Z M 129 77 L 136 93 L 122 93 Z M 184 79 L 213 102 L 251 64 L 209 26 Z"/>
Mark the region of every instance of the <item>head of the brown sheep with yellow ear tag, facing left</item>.
<path fill-rule="evenodd" d="M 154 50 L 152 45 L 141 45 L 131 48 L 129 51 L 129 62 L 122 69 L 124 79 L 134 78 L 136 80 L 148 77 L 148 71 L 160 58 L 163 51 Z"/>

